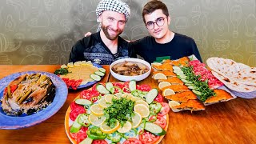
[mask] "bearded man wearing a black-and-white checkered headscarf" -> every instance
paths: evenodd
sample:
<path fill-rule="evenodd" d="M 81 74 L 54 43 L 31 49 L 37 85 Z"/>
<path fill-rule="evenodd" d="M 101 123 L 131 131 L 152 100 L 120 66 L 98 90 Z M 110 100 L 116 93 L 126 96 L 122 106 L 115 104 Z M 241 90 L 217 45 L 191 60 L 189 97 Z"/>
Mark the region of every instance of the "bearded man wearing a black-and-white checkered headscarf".
<path fill-rule="evenodd" d="M 91 61 L 110 65 L 117 59 L 134 57 L 122 34 L 130 17 L 130 7 L 121 0 L 102 0 L 96 9 L 98 32 L 78 40 L 72 47 L 69 62 Z"/>

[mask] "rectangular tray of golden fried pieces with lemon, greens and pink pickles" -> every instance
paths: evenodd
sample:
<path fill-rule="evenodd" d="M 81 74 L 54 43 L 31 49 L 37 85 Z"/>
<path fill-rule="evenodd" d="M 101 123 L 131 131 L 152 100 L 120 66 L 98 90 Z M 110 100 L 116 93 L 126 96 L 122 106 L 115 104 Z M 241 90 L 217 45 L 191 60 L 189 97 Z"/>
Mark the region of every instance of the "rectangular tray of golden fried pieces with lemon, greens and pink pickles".
<path fill-rule="evenodd" d="M 223 83 L 214 77 L 206 65 L 197 59 L 183 57 L 172 61 L 152 63 L 153 78 L 170 102 L 173 111 L 205 110 L 205 106 L 235 98 Z"/>

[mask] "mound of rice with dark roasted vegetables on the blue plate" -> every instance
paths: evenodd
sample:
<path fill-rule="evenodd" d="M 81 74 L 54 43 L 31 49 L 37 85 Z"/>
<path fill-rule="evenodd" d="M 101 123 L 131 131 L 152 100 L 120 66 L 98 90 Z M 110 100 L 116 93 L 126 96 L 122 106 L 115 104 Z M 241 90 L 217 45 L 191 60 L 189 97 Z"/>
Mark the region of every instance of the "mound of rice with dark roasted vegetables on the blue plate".
<path fill-rule="evenodd" d="M 7 115 L 34 114 L 54 100 L 55 86 L 45 74 L 22 74 L 6 86 L 2 110 Z"/>

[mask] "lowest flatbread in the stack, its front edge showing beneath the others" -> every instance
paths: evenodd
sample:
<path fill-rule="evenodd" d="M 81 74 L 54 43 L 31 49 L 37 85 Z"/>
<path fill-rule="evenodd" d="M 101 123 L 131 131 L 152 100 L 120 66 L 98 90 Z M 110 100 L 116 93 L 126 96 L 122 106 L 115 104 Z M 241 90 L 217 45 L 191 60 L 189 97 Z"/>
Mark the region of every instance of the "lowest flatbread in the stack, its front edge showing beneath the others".
<path fill-rule="evenodd" d="M 256 90 L 256 86 L 251 86 L 251 85 L 242 84 L 241 82 L 240 83 L 236 82 L 233 79 L 226 78 L 222 74 L 218 74 L 215 71 L 212 71 L 212 74 L 214 75 L 214 77 L 218 78 L 218 80 L 223 82 L 231 90 L 235 90 L 238 92 L 252 92 Z"/>

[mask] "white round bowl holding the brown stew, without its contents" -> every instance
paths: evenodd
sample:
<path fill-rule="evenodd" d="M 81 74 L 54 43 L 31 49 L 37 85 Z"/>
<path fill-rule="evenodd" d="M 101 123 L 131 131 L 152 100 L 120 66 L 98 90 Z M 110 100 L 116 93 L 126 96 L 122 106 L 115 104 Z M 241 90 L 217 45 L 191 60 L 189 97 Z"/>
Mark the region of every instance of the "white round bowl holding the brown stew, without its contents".
<path fill-rule="evenodd" d="M 134 76 L 117 74 L 114 72 L 114 70 L 112 70 L 112 68 L 114 65 L 121 63 L 121 62 L 133 62 L 133 63 L 143 64 L 148 68 L 148 71 L 144 74 L 139 74 L 139 75 L 134 75 Z M 112 74 L 114 78 L 117 78 L 119 81 L 122 81 L 122 82 L 127 82 L 127 81 L 131 81 L 131 80 L 141 81 L 141 80 L 147 78 L 150 75 L 150 72 L 151 72 L 150 63 L 146 62 L 142 59 L 138 59 L 138 58 L 122 58 L 122 59 L 112 62 L 110 65 L 110 74 Z"/>

